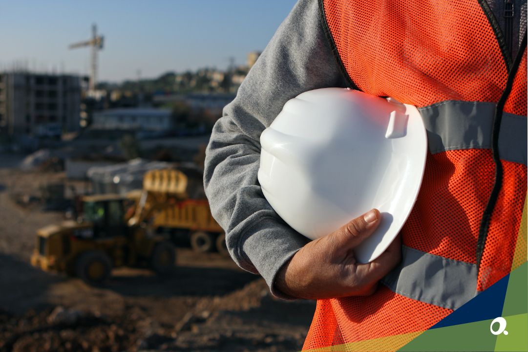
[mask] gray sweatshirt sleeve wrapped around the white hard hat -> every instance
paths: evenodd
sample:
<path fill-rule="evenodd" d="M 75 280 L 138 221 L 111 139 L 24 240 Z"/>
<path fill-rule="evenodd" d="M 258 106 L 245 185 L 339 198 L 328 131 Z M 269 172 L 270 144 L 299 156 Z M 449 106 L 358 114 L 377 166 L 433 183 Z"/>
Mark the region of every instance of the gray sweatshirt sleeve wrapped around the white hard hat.
<path fill-rule="evenodd" d="M 325 87 L 346 87 L 346 80 L 323 31 L 317 0 L 300 0 L 224 108 L 206 150 L 205 193 L 225 229 L 229 253 L 243 269 L 260 273 L 276 295 L 281 295 L 273 286 L 276 273 L 307 239 L 262 195 L 259 137 L 286 101 Z"/>

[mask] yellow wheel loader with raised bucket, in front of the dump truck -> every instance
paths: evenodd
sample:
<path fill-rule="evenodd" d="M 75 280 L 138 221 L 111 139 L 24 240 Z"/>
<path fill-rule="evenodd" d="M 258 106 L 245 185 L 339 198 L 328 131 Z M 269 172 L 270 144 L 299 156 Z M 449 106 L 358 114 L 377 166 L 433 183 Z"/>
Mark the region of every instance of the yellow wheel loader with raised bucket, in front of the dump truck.
<path fill-rule="evenodd" d="M 117 194 L 82 198 L 82 216 L 37 231 L 31 263 L 43 270 L 79 276 L 90 284 L 105 282 L 112 267 L 147 266 L 168 272 L 174 245 L 152 231 L 154 212 L 185 200 L 187 178 L 176 170 L 145 174 L 137 200 Z"/>

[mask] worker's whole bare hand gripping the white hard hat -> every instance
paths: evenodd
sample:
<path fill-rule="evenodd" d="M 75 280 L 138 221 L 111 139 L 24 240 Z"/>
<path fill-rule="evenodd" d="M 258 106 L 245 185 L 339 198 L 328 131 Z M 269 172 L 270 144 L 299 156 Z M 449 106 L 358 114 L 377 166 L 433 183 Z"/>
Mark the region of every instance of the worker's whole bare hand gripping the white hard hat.
<path fill-rule="evenodd" d="M 380 220 L 379 210 L 372 209 L 334 233 L 309 242 L 282 266 L 275 287 L 304 299 L 374 293 L 378 281 L 400 261 L 400 238 L 367 264 L 356 262 L 353 249 L 373 233 Z"/>

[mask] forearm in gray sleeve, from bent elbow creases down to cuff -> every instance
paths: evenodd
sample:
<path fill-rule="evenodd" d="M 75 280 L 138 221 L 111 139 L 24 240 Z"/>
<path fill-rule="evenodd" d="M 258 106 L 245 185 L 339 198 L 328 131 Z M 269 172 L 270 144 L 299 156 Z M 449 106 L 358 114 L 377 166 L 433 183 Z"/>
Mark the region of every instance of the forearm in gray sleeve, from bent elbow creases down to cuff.
<path fill-rule="evenodd" d="M 286 225 L 263 197 L 257 181 L 260 145 L 254 143 L 233 129 L 231 118 L 216 123 L 206 153 L 205 189 L 233 260 L 260 273 L 280 295 L 273 289 L 275 275 L 307 239 Z"/>

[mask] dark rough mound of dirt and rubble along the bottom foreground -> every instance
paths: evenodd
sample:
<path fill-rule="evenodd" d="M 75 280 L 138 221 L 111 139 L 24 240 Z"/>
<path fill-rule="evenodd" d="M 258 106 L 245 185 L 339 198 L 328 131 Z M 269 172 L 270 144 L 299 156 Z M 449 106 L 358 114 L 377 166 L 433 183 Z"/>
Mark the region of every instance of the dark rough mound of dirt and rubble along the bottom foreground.
<path fill-rule="evenodd" d="M 282 351 L 302 347 L 312 303 L 276 300 L 262 280 L 237 293 L 204 299 L 174 324 L 159 322 L 135 305 L 127 305 L 119 316 L 62 306 L 30 310 L 18 317 L 0 311 L 0 351 Z M 296 324 L 291 324 L 292 319 Z"/>

